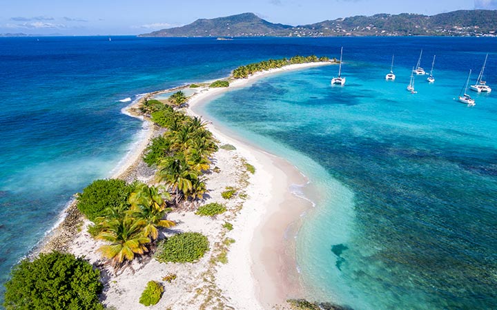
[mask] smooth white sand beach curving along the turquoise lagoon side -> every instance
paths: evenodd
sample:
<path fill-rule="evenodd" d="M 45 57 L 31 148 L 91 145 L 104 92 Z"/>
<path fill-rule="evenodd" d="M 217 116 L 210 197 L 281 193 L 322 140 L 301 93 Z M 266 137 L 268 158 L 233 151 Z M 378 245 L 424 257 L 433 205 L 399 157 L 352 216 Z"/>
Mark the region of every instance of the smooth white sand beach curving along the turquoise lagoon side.
<path fill-rule="evenodd" d="M 306 63 L 258 72 L 248 79 L 235 80 L 229 87 L 208 89 L 195 94 L 188 101 L 188 114 L 201 116 L 197 108 L 224 92 L 246 87 L 257 79 L 288 70 L 300 70 L 329 63 Z M 204 120 L 204 118 L 202 116 Z M 301 215 L 312 207 L 309 200 L 293 194 L 290 187 L 306 185 L 307 178 L 291 163 L 265 152 L 263 149 L 242 141 L 233 134 L 226 134 L 222 127 L 208 119 L 207 128 L 214 136 L 234 145 L 240 154 L 255 166 L 257 184 L 255 197 L 246 202 L 238 216 L 243 228 L 237 234 L 237 242 L 228 253 L 228 265 L 220 268 L 218 284 L 231 300 L 240 296 L 254 296 L 262 309 L 271 309 L 275 304 L 285 304 L 289 298 L 302 297 L 297 263 L 295 261 L 295 236 L 300 227 Z M 265 208 L 260 206 L 264 205 Z M 250 210 L 247 210 L 250 209 Z M 242 220 L 243 218 L 243 220 Z M 240 241 L 238 241 L 240 240 Z M 250 266 L 250 269 L 246 268 Z M 252 283 L 252 288 L 248 283 Z M 246 300 L 246 298 L 243 298 Z M 237 302 L 236 309 L 255 309 L 254 304 Z"/>

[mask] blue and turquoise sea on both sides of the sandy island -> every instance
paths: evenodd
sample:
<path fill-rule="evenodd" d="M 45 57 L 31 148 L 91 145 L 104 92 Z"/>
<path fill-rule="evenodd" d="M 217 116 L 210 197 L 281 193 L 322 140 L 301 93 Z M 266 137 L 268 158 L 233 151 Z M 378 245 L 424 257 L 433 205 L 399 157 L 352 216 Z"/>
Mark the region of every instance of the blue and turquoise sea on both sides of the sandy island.
<path fill-rule="evenodd" d="M 0 282 L 75 192 L 110 176 L 142 123 L 137 94 L 226 76 L 252 61 L 318 54 L 337 66 L 268 76 L 206 105 L 288 158 L 316 207 L 297 236 L 309 297 L 354 309 L 496 309 L 497 39 L 0 39 Z M 436 63 L 405 90 L 423 49 Z M 489 52 L 491 94 L 454 101 Z M 384 81 L 396 54 L 395 82 Z"/>

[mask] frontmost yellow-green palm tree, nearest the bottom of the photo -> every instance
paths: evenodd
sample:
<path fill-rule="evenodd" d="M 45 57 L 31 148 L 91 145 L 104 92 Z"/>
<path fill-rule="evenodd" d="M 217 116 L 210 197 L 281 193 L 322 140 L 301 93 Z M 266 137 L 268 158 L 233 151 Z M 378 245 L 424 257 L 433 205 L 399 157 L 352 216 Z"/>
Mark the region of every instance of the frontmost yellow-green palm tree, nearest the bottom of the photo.
<path fill-rule="evenodd" d="M 135 255 L 148 252 L 146 244 L 150 239 L 144 236 L 143 225 L 143 220 L 128 216 L 101 223 L 102 231 L 97 235 L 97 239 L 108 241 L 110 245 L 102 245 L 99 251 L 111 260 L 113 267 L 117 268 L 124 260 L 131 261 Z"/>

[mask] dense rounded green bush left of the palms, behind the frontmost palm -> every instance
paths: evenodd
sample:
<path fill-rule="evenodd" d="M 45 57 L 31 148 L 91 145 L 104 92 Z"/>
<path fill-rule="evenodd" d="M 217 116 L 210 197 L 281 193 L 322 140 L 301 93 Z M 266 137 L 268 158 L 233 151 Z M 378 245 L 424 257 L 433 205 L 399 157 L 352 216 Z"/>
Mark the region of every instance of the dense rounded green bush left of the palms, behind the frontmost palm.
<path fill-rule="evenodd" d="M 85 187 L 77 196 L 77 207 L 89 220 L 105 215 L 105 209 L 129 207 L 128 197 L 134 190 L 134 185 L 128 185 L 124 180 L 109 178 L 95 180 Z"/>

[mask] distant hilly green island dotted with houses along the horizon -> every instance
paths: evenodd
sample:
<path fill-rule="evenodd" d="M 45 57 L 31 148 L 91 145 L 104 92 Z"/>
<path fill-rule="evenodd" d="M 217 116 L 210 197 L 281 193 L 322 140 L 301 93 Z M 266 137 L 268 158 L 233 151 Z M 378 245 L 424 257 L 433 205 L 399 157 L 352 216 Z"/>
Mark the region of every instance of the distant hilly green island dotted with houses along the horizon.
<path fill-rule="evenodd" d="M 422 14 L 376 14 L 313 23 L 271 23 L 253 13 L 197 19 L 182 27 L 162 29 L 139 37 L 360 37 L 360 36 L 473 36 L 495 37 L 497 10 L 458 10 Z"/>

